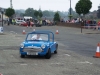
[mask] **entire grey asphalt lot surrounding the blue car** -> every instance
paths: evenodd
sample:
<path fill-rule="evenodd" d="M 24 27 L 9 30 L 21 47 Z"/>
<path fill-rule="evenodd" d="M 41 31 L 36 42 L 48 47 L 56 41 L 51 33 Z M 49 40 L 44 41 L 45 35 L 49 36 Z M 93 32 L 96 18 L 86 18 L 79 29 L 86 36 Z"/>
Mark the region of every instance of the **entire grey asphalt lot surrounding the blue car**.
<path fill-rule="evenodd" d="M 51 59 L 44 57 L 19 57 L 18 47 L 26 35 L 36 30 L 51 30 L 58 42 L 58 54 Z M 43 26 L 4 26 L 5 35 L 0 35 L 0 73 L 3 75 L 100 75 L 100 59 L 94 58 L 100 31 L 79 28 Z M 17 34 L 16 34 L 17 33 Z"/>

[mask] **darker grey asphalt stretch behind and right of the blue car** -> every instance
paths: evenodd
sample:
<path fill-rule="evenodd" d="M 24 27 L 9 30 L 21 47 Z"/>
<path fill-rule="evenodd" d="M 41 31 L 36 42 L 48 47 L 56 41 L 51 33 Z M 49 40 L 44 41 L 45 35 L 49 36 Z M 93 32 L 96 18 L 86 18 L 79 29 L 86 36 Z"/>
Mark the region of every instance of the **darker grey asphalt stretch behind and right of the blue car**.
<path fill-rule="evenodd" d="M 96 51 L 97 44 L 100 42 L 100 31 L 84 29 L 83 33 L 79 28 L 58 27 L 58 26 L 43 26 L 26 28 L 20 26 L 4 26 L 6 31 L 14 31 L 15 33 L 22 34 L 25 30 L 26 33 L 35 30 L 50 30 L 54 34 L 58 29 L 59 34 L 55 35 L 55 41 L 58 41 L 66 47 L 67 50 L 74 51 L 83 56 L 92 57 Z"/>

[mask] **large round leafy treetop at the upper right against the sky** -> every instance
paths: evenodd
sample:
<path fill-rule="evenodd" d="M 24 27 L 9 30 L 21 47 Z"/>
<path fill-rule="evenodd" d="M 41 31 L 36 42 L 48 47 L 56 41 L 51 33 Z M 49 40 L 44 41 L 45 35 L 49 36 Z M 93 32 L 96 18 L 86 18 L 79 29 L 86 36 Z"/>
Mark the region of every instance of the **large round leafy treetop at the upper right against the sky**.
<path fill-rule="evenodd" d="M 90 0 L 79 0 L 78 3 L 76 3 L 75 10 L 79 15 L 85 15 L 89 13 L 91 7 L 92 2 Z"/>

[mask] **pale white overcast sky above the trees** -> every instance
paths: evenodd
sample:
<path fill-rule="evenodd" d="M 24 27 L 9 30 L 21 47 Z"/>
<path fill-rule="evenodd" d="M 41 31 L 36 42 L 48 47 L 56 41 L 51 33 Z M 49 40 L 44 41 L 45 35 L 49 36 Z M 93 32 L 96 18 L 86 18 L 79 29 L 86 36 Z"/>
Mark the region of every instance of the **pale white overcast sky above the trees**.
<path fill-rule="evenodd" d="M 72 0 L 72 8 L 75 10 L 75 5 L 79 0 Z M 90 11 L 97 10 L 100 4 L 99 0 L 91 0 L 92 8 Z M 29 7 L 41 10 L 68 11 L 70 0 L 12 0 L 14 9 L 27 9 Z M 10 0 L 0 0 L 0 7 L 10 7 Z"/>

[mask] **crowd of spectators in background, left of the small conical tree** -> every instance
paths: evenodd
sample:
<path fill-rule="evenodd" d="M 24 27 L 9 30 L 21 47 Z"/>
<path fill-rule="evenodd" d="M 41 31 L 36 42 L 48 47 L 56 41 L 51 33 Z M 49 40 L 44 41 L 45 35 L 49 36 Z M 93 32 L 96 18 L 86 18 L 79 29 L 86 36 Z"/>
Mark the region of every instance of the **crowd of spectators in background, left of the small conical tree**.
<path fill-rule="evenodd" d="M 40 20 L 37 20 L 37 19 L 21 19 L 21 18 L 16 18 L 16 19 L 7 19 L 5 20 L 5 23 L 7 23 L 8 25 L 10 24 L 13 24 L 13 25 L 16 25 L 16 21 L 17 20 L 23 20 L 25 22 L 27 22 L 27 24 L 30 26 L 30 22 L 33 22 L 34 24 L 39 24 L 39 25 L 44 25 L 44 26 L 52 26 L 52 25 L 55 25 L 56 22 L 54 21 L 50 21 L 50 20 L 47 20 L 47 19 L 40 19 Z"/>

